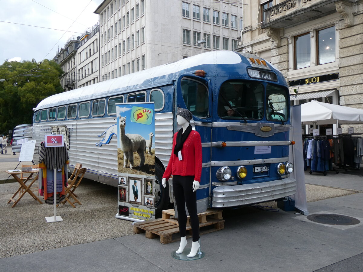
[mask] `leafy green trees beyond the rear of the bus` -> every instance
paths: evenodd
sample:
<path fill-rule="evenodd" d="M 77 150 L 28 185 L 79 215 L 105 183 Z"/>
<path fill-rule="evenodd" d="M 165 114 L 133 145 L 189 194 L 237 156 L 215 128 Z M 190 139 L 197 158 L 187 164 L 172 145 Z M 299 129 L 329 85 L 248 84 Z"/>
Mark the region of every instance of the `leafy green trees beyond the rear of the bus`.
<path fill-rule="evenodd" d="M 63 92 L 63 71 L 53 60 L 5 61 L 0 66 L 0 133 L 33 123 L 33 108 L 44 98 Z"/>

